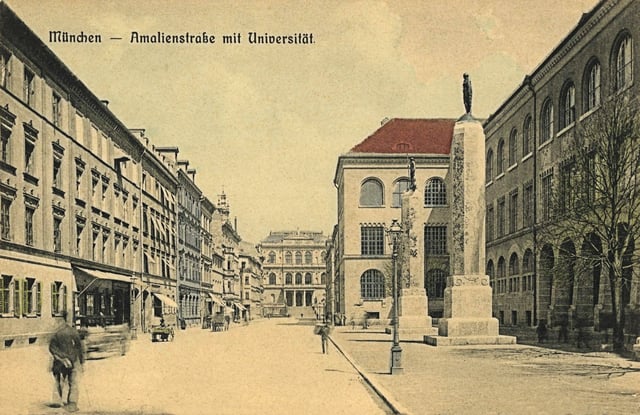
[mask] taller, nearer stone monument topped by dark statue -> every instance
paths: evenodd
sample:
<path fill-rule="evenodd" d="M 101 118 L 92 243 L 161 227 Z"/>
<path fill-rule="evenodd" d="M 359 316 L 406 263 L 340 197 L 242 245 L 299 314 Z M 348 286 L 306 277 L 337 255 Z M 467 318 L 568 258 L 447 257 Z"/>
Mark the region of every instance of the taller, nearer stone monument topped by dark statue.
<path fill-rule="evenodd" d="M 471 81 L 464 75 L 466 113 L 453 130 L 451 142 L 451 275 L 444 290 L 444 315 L 437 336 L 425 336 L 434 346 L 513 344 L 500 336 L 493 318 L 492 292 L 485 275 L 485 136 L 471 115 Z"/>

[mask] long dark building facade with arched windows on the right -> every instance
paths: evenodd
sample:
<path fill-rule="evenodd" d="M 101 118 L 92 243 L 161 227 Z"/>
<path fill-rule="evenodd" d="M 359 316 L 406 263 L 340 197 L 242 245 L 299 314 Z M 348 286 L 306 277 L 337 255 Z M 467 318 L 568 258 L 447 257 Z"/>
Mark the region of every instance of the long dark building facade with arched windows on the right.
<path fill-rule="evenodd" d="M 554 189 L 571 191 L 571 138 L 612 95 L 638 97 L 639 25 L 638 2 L 599 2 L 484 125 L 486 267 L 501 324 L 574 325 L 581 319 L 598 326 L 601 313 L 610 313 L 601 265 L 573 264 L 568 285 L 554 270 L 567 253 L 585 253 L 590 242 L 567 235 L 558 248 L 542 235 L 552 220 Z M 623 299 L 633 311 L 640 299 L 638 266 L 627 269 Z"/>

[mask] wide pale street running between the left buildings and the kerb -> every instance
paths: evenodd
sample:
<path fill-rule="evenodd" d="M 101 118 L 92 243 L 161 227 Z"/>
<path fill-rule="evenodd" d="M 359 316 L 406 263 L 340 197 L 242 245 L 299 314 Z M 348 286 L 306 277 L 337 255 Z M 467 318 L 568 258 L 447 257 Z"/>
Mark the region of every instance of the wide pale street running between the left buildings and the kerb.
<path fill-rule="evenodd" d="M 312 322 L 254 321 L 227 332 L 179 331 L 131 342 L 123 357 L 89 360 L 80 413 L 383 414 L 345 358 L 323 355 Z M 46 347 L 0 352 L 1 414 L 56 414 Z"/>

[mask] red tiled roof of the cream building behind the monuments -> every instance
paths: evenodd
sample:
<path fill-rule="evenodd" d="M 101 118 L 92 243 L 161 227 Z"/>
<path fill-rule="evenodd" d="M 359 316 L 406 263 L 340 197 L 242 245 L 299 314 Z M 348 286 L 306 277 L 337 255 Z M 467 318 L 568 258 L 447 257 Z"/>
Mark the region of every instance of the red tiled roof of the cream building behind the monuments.
<path fill-rule="evenodd" d="M 351 153 L 449 154 L 455 119 L 393 118 Z"/>

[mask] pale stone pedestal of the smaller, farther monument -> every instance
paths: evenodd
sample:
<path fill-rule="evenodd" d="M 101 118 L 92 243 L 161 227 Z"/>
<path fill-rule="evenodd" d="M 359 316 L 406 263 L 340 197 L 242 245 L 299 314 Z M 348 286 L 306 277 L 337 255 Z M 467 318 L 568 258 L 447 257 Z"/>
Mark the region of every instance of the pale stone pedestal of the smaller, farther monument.
<path fill-rule="evenodd" d="M 398 334 L 400 340 L 422 340 L 435 334 L 431 317 L 427 315 L 427 294 L 424 288 L 404 288 L 398 298 Z"/>

